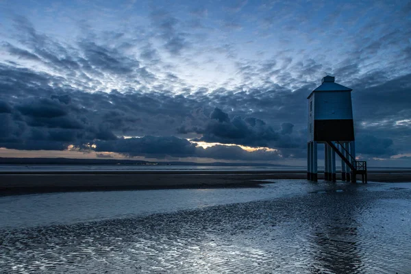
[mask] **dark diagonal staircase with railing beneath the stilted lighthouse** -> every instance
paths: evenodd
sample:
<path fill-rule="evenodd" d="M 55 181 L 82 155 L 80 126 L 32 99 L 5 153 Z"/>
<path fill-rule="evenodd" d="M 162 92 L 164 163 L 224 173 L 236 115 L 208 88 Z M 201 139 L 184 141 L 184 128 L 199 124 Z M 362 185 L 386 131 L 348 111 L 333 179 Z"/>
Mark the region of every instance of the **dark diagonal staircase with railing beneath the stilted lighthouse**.
<path fill-rule="evenodd" d="M 336 141 L 335 144 L 334 142 L 327 141 L 327 145 L 331 147 L 338 156 L 347 164 L 349 169 L 351 169 L 351 182 L 356 183 L 357 182 L 357 175 L 362 176 L 362 184 L 367 183 L 367 176 L 366 176 L 366 161 L 357 161 L 353 156 L 345 149 L 343 144 L 340 142 Z M 348 158 L 345 157 L 345 155 L 348 155 Z"/>

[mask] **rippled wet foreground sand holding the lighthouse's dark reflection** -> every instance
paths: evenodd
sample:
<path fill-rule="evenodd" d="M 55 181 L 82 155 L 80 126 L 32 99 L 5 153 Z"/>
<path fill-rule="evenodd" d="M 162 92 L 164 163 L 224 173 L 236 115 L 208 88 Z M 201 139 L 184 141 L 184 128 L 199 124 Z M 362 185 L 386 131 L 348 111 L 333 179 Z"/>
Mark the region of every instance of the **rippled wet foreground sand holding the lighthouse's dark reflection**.
<path fill-rule="evenodd" d="M 2 230 L 0 272 L 407 273 L 410 189 L 292 184 L 278 188 L 304 191 L 197 210 Z M 195 190 L 190 195 L 195 199 Z"/>

